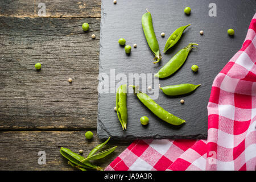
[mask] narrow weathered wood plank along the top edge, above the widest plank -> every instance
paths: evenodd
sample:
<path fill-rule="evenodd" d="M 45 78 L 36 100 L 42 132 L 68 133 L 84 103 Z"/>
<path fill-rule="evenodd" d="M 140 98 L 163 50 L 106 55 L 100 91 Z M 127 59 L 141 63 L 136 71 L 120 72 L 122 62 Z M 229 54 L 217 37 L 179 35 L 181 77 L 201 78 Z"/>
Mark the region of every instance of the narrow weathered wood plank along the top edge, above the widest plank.
<path fill-rule="evenodd" d="M 85 18 L 101 16 L 101 0 L 2 0 L 0 1 L 0 16 L 38 17 L 39 3 L 46 5 L 46 17 Z"/>

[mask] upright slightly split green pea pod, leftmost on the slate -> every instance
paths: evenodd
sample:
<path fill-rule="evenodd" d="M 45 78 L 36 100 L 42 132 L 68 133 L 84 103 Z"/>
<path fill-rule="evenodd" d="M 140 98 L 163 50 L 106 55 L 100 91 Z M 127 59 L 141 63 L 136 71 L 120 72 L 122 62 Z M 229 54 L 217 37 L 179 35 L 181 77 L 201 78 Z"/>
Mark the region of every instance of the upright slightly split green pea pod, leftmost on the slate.
<path fill-rule="evenodd" d="M 126 129 L 127 125 L 127 86 L 121 85 L 117 89 L 115 104 L 117 107 L 117 117 L 122 125 L 122 129 Z"/>

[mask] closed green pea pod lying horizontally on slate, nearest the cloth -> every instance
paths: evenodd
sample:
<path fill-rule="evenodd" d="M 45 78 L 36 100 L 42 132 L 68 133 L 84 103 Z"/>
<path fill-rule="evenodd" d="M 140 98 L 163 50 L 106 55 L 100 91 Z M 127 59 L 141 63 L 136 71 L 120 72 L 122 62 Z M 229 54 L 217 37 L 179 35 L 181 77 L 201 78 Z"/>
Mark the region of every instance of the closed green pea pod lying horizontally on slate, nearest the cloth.
<path fill-rule="evenodd" d="M 179 85 L 169 85 L 169 86 L 164 86 L 159 88 L 163 90 L 163 93 L 168 95 L 168 96 L 179 96 L 182 94 L 187 94 L 189 92 L 192 92 L 196 88 L 198 88 L 199 85 L 193 85 L 193 84 L 179 84 Z"/>

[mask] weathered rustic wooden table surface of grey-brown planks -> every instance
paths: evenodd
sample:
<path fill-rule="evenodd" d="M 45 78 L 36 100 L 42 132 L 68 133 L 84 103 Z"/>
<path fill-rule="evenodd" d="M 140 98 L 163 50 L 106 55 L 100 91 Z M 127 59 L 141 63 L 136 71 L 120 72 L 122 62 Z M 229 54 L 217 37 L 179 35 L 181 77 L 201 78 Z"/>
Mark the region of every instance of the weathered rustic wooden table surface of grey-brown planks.
<path fill-rule="evenodd" d="M 102 142 L 96 134 L 100 19 L 100 0 L 0 1 L 0 170 L 73 170 L 60 147 L 86 155 Z M 110 141 L 117 150 L 98 164 L 108 166 L 131 142 Z M 46 164 L 38 164 L 39 151 Z"/>

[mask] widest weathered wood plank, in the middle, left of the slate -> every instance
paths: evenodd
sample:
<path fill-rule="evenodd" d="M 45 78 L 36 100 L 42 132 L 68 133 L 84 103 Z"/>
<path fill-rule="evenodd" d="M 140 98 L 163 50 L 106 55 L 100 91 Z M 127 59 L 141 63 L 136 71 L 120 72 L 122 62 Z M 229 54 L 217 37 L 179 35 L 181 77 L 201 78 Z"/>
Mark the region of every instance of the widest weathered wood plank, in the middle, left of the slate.
<path fill-rule="evenodd" d="M 99 39 L 100 18 L 0 17 L 0 130 L 96 129 Z"/>

